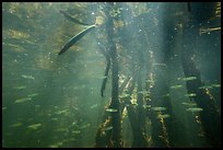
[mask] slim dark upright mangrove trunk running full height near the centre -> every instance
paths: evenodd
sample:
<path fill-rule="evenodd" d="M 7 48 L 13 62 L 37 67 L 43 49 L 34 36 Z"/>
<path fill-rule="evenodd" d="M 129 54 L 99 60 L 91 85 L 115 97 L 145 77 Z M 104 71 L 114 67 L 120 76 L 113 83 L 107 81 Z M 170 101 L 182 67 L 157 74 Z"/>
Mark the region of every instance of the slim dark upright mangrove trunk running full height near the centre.
<path fill-rule="evenodd" d="M 110 130 L 111 135 L 109 137 L 109 140 L 108 141 L 106 140 L 106 142 L 108 143 L 103 146 L 111 147 L 111 148 L 120 148 L 122 147 L 122 145 L 121 145 L 121 134 L 120 134 L 120 111 L 119 111 L 119 100 L 118 100 L 118 60 L 117 60 L 116 45 L 113 41 L 113 38 L 115 37 L 115 34 L 114 34 L 115 20 L 109 14 L 109 12 L 113 9 L 113 5 L 114 3 L 107 4 L 105 10 L 105 15 L 107 16 L 107 22 L 106 22 L 107 44 L 109 45 L 108 51 L 110 55 L 110 64 L 111 64 L 111 101 L 108 108 L 117 109 L 117 112 L 109 113 L 109 116 L 110 116 L 109 122 L 113 129 Z M 99 137 L 99 134 L 97 134 L 96 139 L 98 139 L 98 137 Z M 96 140 L 96 142 L 97 141 L 99 140 Z"/>

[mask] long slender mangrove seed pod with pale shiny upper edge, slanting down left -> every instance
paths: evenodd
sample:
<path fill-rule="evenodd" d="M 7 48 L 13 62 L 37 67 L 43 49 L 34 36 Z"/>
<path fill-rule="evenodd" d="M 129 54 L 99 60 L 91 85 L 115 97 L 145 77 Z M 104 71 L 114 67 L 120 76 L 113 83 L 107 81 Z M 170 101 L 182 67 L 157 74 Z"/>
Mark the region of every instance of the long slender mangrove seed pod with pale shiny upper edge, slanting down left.
<path fill-rule="evenodd" d="M 63 54 L 64 51 L 67 51 L 73 44 L 75 44 L 79 39 L 81 39 L 87 32 L 92 31 L 93 28 L 95 28 L 95 24 L 86 27 L 85 30 L 83 30 L 82 32 L 80 32 L 79 34 L 77 34 L 75 36 L 73 36 L 63 47 L 62 49 L 59 51 L 58 55 Z"/>

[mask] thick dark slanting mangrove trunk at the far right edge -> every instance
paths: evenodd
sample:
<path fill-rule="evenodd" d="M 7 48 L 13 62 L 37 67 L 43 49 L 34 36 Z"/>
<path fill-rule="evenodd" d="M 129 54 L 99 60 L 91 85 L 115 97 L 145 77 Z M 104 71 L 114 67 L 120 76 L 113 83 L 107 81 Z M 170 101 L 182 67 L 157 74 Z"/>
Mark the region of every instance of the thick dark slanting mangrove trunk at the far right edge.
<path fill-rule="evenodd" d="M 195 93 L 193 101 L 198 107 L 201 107 L 200 112 L 201 125 L 204 130 L 207 141 L 211 147 L 220 147 L 221 142 L 221 118 L 220 113 L 215 107 L 215 102 L 208 89 L 199 89 L 203 85 L 200 77 L 200 72 L 197 69 L 195 61 L 188 54 L 187 49 L 183 53 L 183 68 L 185 77 L 196 77 L 196 80 L 187 81 L 188 93 Z"/>

